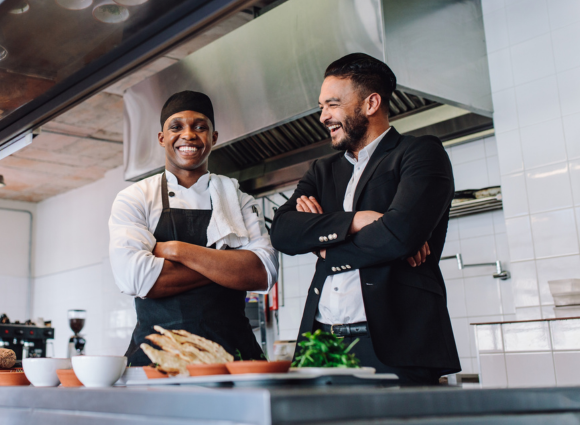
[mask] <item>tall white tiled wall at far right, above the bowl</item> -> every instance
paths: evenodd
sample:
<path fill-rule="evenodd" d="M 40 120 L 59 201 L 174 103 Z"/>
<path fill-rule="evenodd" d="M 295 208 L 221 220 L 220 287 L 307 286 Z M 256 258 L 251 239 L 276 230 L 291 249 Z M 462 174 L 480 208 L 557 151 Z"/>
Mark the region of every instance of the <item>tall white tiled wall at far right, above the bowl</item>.
<path fill-rule="evenodd" d="M 580 277 L 580 1 L 484 0 L 518 319 L 553 317 Z"/>

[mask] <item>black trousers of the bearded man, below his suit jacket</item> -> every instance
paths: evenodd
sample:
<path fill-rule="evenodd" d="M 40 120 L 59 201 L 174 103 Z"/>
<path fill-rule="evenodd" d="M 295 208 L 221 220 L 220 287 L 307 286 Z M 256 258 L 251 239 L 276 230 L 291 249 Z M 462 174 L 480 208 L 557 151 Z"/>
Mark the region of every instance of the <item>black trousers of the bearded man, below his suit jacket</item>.
<path fill-rule="evenodd" d="M 320 329 L 320 324 L 314 322 L 314 330 Z M 381 362 L 373 348 L 371 336 L 347 336 L 343 338 L 345 346 L 349 346 L 356 339 L 359 341 L 350 350 L 357 359 L 360 360 L 360 366 L 374 367 L 376 373 L 394 373 L 399 377 L 403 385 L 439 385 L 439 377 L 442 375 L 440 369 L 428 367 L 393 367 Z"/>

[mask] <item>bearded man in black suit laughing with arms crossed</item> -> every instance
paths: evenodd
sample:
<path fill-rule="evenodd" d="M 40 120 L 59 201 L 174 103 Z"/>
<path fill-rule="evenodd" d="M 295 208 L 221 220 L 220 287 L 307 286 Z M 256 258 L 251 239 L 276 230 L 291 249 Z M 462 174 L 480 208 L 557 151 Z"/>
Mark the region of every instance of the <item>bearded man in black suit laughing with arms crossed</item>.
<path fill-rule="evenodd" d="M 312 164 L 271 238 L 286 254 L 319 256 L 299 341 L 316 329 L 360 338 L 361 365 L 437 384 L 461 370 L 439 269 L 453 174 L 439 139 L 390 126 L 395 87 L 391 69 L 362 53 L 326 69 L 320 121 L 345 152 Z"/>

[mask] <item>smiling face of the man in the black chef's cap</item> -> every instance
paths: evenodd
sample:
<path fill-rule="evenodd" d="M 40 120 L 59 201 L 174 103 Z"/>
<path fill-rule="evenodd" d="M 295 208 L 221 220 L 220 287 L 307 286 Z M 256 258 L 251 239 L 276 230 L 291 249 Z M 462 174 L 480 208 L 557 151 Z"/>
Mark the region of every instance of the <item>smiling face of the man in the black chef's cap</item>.
<path fill-rule="evenodd" d="M 181 170 L 205 173 L 217 137 L 211 121 L 199 112 L 182 111 L 170 116 L 158 134 L 159 144 L 165 148 L 165 167 L 173 174 Z"/>

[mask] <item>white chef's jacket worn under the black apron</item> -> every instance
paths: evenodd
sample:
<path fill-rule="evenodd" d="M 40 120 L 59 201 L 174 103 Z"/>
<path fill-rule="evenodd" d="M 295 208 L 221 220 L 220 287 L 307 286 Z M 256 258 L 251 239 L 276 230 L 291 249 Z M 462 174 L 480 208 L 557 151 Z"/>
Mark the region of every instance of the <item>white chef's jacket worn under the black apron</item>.
<path fill-rule="evenodd" d="M 175 193 L 175 196 L 169 197 L 171 208 L 212 208 L 209 173 L 200 177 L 189 189 L 180 186 L 171 172 L 165 173 L 167 190 Z M 152 254 L 157 242 L 153 233 L 163 210 L 161 176 L 157 174 L 141 180 L 119 192 L 109 219 L 109 256 L 115 282 L 121 292 L 141 298 L 157 281 L 165 261 Z M 268 290 L 256 292 L 267 293 L 278 278 L 278 252 L 270 243 L 258 201 L 240 190 L 238 199 L 250 238 L 246 245 L 238 249 L 252 251 L 264 264 L 268 274 Z"/>

